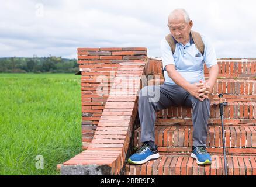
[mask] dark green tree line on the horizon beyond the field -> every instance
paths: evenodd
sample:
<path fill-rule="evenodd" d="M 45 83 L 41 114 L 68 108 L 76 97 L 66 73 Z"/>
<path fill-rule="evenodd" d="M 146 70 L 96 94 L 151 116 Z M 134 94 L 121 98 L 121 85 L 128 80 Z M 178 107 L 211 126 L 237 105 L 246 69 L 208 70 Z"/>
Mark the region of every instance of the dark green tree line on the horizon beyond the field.
<path fill-rule="evenodd" d="M 61 57 L 7 57 L 0 58 L 0 72 L 15 73 L 75 73 L 79 71 L 76 59 Z"/>

